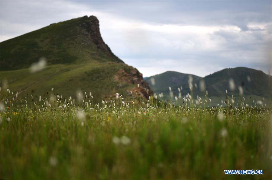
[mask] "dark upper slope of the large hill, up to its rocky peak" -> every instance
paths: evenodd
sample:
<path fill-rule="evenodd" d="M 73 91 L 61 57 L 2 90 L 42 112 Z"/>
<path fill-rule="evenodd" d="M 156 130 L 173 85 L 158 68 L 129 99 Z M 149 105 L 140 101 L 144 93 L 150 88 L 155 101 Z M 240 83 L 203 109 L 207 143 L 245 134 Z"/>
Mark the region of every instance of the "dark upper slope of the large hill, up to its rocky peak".
<path fill-rule="evenodd" d="M 0 70 L 28 68 L 39 58 L 49 64 L 122 62 L 104 43 L 95 16 L 51 24 L 0 43 Z"/>

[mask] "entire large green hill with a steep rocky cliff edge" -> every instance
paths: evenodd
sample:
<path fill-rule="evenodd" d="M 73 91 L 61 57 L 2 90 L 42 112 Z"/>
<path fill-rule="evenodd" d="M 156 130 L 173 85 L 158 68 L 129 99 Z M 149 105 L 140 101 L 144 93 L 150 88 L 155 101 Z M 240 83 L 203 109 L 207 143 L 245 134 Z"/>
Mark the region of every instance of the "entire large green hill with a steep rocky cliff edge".
<path fill-rule="evenodd" d="M 46 61 L 37 63 L 41 58 Z M 39 70 L 45 64 L 42 71 L 31 73 L 31 66 Z M 0 82 L 20 96 L 47 96 L 52 87 L 62 96 L 91 91 L 95 101 L 135 90 L 144 98 L 153 93 L 142 74 L 105 44 L 95 16 L 50 24 L 1 42 Z"/>

